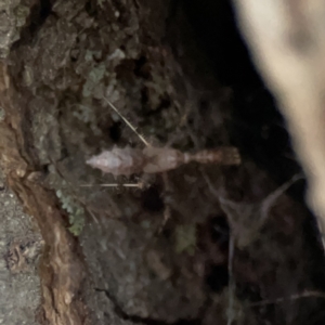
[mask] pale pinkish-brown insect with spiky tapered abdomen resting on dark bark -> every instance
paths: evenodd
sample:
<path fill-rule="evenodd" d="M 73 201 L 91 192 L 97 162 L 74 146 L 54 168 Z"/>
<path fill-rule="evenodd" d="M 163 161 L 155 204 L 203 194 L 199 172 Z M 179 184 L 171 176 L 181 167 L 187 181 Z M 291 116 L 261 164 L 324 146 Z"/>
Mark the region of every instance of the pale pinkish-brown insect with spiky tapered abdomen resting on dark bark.
<path fill-rule="evenodd" d="M 105 99 L 106 100 L 106 99 Z M 154 147 L 140 135 L 135 128 L 108 101 L 109 106 L 127 122 L 146 145 L 143 150 L 114 147 L 98 156 L 93 156 L 87 164 L 93 168 L 114 176 L 130 176 L 133 173 L 160 173 L 176 169 L 184 164 L 196 161 L 199 164 L 239 165 L 240 155 L 236 147 L 225 146 L 216 150 L 204 150 L 196 154 L 182 153 L 170 147 Z"/>

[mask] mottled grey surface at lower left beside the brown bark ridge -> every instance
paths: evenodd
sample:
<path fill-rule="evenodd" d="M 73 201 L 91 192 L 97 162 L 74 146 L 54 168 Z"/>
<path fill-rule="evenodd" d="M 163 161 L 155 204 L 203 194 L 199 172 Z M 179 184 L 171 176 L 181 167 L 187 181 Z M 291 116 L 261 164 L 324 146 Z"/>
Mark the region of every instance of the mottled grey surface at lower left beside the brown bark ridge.
<path fill-rule="evenodd" d="M 1 183 L 2 179 L 1 176 Z M 38 324 L 35 314 L 40 303 L 37 272 L 40 243 L 31 218 L 23 212 L 17 198 L 10 191 L 1 191 L 0 324 Z"/>

